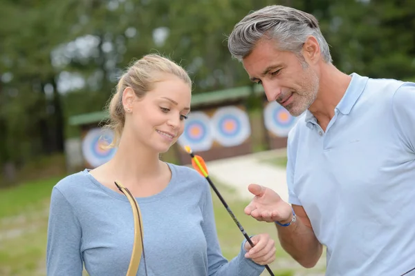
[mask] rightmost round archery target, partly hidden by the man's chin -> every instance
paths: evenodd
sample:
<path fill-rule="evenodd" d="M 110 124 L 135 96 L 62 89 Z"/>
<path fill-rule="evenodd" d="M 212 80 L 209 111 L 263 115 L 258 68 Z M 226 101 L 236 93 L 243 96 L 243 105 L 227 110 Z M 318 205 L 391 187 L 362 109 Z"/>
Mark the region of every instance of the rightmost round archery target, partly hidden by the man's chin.
<path fill-rule="evenodd" d="M 291 116 L 284 107 L 276 101 L 268 103 L 264 109 L 264 124 L 267 130 L 279 137 L 287 137 L 297 119 Z"/>

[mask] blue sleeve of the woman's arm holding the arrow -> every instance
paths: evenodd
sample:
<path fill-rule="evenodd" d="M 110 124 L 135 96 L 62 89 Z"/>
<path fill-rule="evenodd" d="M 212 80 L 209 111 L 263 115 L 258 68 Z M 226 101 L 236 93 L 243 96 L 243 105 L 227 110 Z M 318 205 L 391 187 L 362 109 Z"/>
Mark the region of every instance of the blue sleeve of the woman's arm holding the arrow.
<path fill-rule="evenodd" d="M 246 250 L 243 248 L 245 240 L 241 244 L 241 251 L 237 257 L 228 262 L 221 254 L 212 204 L 212 194 L 208 183 L 205 185 L 205 198 L 203 208 L 203 232 L 208 243 L 208 275 L 209 276 L 257 276 L 262 273 L 264 266 L 246 259 Z M 237 226 L 235 225 L 237 231 Z"/>

